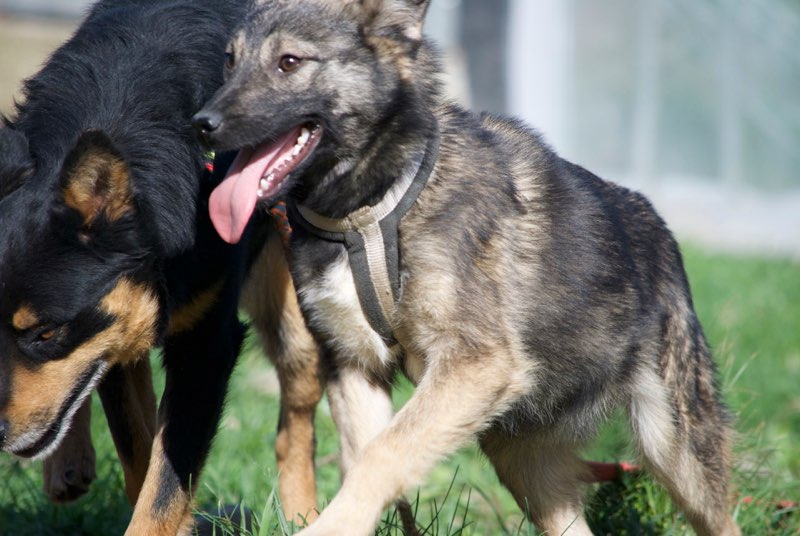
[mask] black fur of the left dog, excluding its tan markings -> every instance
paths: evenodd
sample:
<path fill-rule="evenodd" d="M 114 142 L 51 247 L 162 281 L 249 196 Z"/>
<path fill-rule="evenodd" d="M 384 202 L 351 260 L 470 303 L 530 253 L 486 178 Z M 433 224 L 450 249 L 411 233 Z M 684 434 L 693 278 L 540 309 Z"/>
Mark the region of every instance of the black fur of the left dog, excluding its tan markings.
<path fill-rule="evenodd" d="M 242 340 L 246 263 L 246 246 L 223 243 L 211 228 L 206 199 L 224 171 L 205 170 L 189 118 L 222 83 L 224 46 L 246 4 L 101 1 L 25 83 L 24 101 L 0 128 L 0 418 L 14 396 L 12 364 L 68 358 L 113 322 L 97 306 L 121 277 L 144 283 L 157 295 L 167 370 L 165 466 L 184 491 L 196 484 Z M 98 147 L 124 160 L 133 210 L 87 226 L 63 190 L 76 159 Z M 220 281 L 212 310 L 170 336 L 172 313 Z M 12 329 L 23 304 L 42 320 L 37 330 L 56 334 Z M 111 411 L 121 396 L 101 395 Z M 162 490 L 164 505 L 174 491 Z"/>

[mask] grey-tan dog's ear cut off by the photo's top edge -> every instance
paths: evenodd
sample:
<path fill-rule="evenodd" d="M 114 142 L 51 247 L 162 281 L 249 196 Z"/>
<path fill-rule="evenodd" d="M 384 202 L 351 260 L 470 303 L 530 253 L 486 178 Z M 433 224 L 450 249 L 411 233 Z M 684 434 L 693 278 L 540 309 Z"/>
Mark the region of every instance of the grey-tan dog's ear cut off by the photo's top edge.
<path fill-rule="evenodd" d="M 360 0 L 364 32 L 368 35 L 422 41 L 430 0 Z"/>

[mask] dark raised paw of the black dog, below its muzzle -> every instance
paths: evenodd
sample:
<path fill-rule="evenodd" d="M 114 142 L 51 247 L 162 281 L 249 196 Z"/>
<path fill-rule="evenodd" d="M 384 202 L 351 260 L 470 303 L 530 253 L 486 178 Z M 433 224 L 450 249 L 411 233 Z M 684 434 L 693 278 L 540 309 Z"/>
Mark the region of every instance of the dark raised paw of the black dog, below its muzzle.
<path fill-rule="evenodd" d="M 44 491 L 54 503 L 74 501 L 89 491 L 97 476 L 91 437 L 66 437 L 44 461 Z"/>

